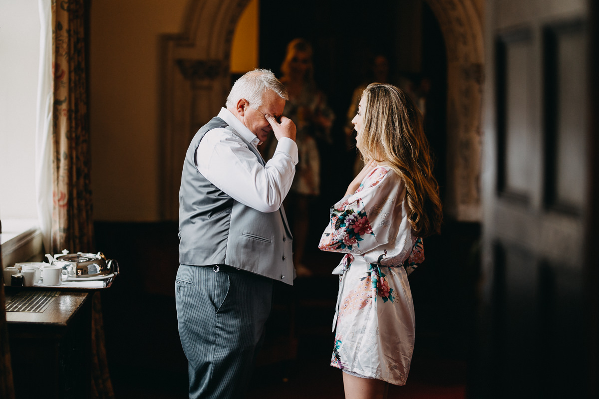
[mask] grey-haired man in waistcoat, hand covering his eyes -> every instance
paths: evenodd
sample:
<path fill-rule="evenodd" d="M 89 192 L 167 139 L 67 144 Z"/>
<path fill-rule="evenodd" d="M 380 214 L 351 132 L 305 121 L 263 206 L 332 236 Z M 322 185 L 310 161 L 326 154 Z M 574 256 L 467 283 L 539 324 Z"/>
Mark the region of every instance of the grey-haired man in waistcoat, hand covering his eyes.
<path fill-rule="evenodd" d="M 190 398 L 243 397 L 273 282 L 293 284 L 282 203 L 298 153 L 295 124 L 281 116 L 287 99 L 272 72 L 248 72 L 185 156 L 175 296 Z M 278 145 L 265 163 L 257 147 L 270 133 Z"/>

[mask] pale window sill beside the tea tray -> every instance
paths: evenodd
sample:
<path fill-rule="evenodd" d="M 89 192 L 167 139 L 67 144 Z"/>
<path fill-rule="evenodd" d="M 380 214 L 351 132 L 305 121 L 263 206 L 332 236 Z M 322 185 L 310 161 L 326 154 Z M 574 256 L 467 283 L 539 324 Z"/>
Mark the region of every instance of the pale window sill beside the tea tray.
<path fill-rule="evenodd" d="M 35 219 L 2 220 L 2 265 L 38 261 L 43 257 L 43 239 Z"/>

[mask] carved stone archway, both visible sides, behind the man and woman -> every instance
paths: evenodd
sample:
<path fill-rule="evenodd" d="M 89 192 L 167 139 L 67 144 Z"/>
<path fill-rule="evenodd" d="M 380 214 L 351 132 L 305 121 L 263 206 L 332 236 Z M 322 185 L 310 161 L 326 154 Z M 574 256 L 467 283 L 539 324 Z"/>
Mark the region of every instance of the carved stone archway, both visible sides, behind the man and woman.
<path fill-rule="evenodd" d="M 230 89 L 235 24 L 249 0 L 190 0 L 183 32 L 162 39 L 161 217 L 177 220 L 184 153 Z M 480 221 L 483 38 L 474 0 L 425 0 L 447 50 L 446 214 Z"/>

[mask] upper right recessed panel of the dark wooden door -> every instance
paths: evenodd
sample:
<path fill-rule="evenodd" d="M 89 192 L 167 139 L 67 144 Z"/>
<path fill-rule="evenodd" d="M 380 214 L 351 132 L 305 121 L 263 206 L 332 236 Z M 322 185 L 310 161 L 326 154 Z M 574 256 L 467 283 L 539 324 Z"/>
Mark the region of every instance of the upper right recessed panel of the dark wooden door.
<path fill-rule="evenodd" d="M 558 212 L 580 215 L 585 200 L 585 162 L 573 162 L 586 137 L 586 29 L 582 20 L 546 26 L 544 47 L 544 202 Z"/>

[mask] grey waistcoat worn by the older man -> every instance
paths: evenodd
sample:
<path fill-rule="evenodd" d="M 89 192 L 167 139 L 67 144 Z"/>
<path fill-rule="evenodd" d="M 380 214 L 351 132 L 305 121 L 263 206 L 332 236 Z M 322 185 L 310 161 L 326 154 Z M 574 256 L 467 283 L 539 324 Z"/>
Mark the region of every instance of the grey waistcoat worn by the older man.
<path fill-rule="evenodd" d="M 293 284 L 292 236 L 283 207 L 264 213 L 235 201 L 198 172 L 195 154 L 208 130 L 225 127 L 258 151 L 221 118 L 193 136 L 187 149 L 179 191 L 179 263 L 227 264 Z"/>

